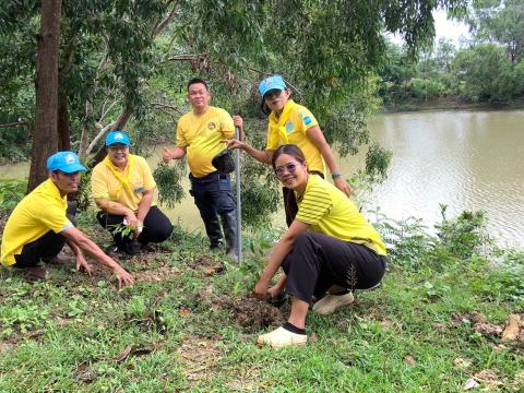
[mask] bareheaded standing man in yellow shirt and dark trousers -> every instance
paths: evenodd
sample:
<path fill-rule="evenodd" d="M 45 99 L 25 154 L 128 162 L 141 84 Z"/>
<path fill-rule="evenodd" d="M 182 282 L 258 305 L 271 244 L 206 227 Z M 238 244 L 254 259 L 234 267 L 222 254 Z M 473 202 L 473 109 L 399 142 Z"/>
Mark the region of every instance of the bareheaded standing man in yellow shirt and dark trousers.
<path fill-rule="evenodd" d="M 164 148 L 163 159 L 169 163 L 187 155 L 191 180 L 190 193 L 204 222 L 210 238 L 210 249 L 222 247 L 226 238 L 228 257 L 237 253 L 237 218 L 229 175 L 212 165 L 213 157 L 226 148 L 223 140 L 235 135 L 233 119 L 224 109 L 210 106 L 207 84 L 198 78 L 188 83 L 188 100 L 192 110 L 183 115 L 177 124 L 175 148 Z"/>

